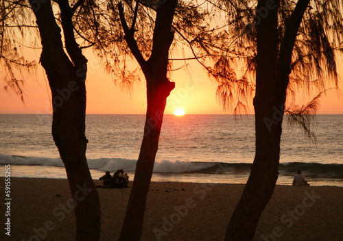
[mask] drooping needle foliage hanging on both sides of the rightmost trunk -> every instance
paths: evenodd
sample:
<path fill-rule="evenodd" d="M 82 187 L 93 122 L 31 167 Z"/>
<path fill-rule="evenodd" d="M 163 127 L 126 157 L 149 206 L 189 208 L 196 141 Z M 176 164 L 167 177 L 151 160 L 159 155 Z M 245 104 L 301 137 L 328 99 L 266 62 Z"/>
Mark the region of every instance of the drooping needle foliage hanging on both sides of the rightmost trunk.
<path fill-rule="evenodd" d="M 274 1 L 270 1 L 273 3 Z M 275 1 L 278 2 L 278 1 Z M 230 47 L 237 51 L 239 60 L 244 61 L 242 88 L 255 86 L 255 60 L 257 55 L 256 26 L 259 24 L 263 14 L 268 12 L 256 12 L 257 1 L 251 0 L 220 0 L 209 1 L 218 8 L 227 11 L 228 23 L 230 24 L 227 41 Z M 286 26 L 294 12 L 298 1 L 280 0 L 278 6 L 278 34 L 279 53 L 281 45 L 285 41 Z M 274 3 L 276 6 L 276 3 Z M 311 0 L 303 16 L 303 21 L 298 29 L 294 49 L 292 51 L 292 62 L 290 65 L 289 84 L 287 87 L 286 110 L 289 113 L 306 114 L 297 118 L 303 127 L 309 123 L 312 114 L 316 114 L 319 106 L 319 97 L 303 107 L 294 103 L 296 93 L 303 92 L 311 95 L 334 87 L 338 90 L 337 60 L 341 57 L 343 47 L 343 5 L 340 0 Z M 232 53 L 232 52 L 231 52 Z M 237 71 L 237 69 L 236 69 Z M 226 78 L 230 81 L 230 78 Z M 226 83 L 225 79 L 219 79 L 217 96 L 222 99 L 224 107 L 232 100 L 232 84 Z M 235 92 L 237 96 L 245 94 L 244 91 Z M 244 96 L 244 95 L 243 95 Z M 237 97 L 236 97 L 237 98 Z M 239 97 L 238 97 L 239 98 Z M 244 98 L 243 98 L 244 99 Z M 246 99 L 244 99 L 246 100 Z M 289 107 L 287 107 L 289 106 Z M 311 110 L 311 111 L 309 111 Z M 306 116 L 311 116 L 307 118 Z M 289 115 L 293 118 L 294 115 Z M 293 118 L 294 119 L 294 118 Z M 303 120 L 303 121 L 301 121 Z M 306 128 L 305 128 L 306 130 Z M 308 129 L 308 133 L 311 131 Z"/>

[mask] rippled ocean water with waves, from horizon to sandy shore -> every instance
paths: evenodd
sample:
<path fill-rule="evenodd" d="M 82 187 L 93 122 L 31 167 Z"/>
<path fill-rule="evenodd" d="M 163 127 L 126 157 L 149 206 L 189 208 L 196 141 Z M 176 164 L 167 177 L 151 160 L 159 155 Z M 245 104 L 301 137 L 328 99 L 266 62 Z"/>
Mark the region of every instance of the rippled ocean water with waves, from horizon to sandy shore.
<path fill-rule="evenodd" d="M 123 169 L 130 179 L 144 115 L 86 115 L 86 156 L 93 179 Z M 302 170 L 312 186 L 343 187 L 343 115 L 318 115 L 311 143 L 285 119 L 279 185 Z M 245 183 L 255 155 L 253 115 L 165 115 L 152 181 Z M 0 114 L 0 176 L 65 179 L 51 136 L 51 115 Z"/>

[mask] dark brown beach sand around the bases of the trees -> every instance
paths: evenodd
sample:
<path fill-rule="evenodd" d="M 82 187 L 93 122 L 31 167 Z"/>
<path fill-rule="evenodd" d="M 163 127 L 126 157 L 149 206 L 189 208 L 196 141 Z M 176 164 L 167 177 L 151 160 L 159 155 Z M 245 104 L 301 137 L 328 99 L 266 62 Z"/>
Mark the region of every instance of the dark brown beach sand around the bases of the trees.
<path fill-rule="evenodd" d="M 95 183 L 102 185 L 98 180 Z M 4 177 L 0 186 L 0 240 L 74 240 L 75 214 L 69 208 L 66 179 L 11 178 L 11 236 L 4 229 Z M 158 240 L 156 236 L 159 240 L 224 240 L 243 188 L 242 184 L 152 182 L 142 240 Z M 98 192 L 101 240 L 117 240 L 130 188 L 98 188 Z M 342 241 L 342 200 L 343 188 L 276 186 L 254 240 Z M 65 211 L 60 205 L 65 205 Z M 52 230 L 45 231 L 45 225 Z"/>

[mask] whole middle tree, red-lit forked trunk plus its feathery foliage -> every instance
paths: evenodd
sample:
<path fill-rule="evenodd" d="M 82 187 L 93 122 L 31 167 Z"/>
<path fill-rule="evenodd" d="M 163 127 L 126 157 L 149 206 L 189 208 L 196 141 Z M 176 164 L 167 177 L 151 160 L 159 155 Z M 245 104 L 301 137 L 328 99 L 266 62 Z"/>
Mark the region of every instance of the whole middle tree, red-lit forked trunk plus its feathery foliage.
<path fill-rule="evenodd" d="M 133 57 L 137 60 L 147 84 L 145 130 L 119 240 L 141 238 L 145 203 L 158 151 L 163 113 L 167 97 L 175 86 L 168 77 L 171 62 L 214 56 L 215 50 L 208 54 L 206 49 L 217 49 L 214 38 L 224 39 L 224 36 L 215 35 L 216 30 L 213 27 L 212 37 L 209 31 L 211 21 L 206 18 L 210 16 L 211 10 L 202 9 L 200 5 L 202 4 L 177 0 L 125 1 L 124 4 L 108 1 L 108 5 L 99 5 L 95 10 L 95 16 L 100 19 L 107 18 L 99 21 L 106 25 L 97 27 L 100 33 L 98 38 L 102 44 L 95 44 L 107 71 L 120 79 L 121 86 L 132 88 L 133 81 L 139 79 L 139 75 L 137 69 L 130 71 L 126 62 Z M 212 14 L 214 13 L 211 12 L 211 16 Z M 121 23 L 120 28 L 118 21 Z M 84 29 L 84 36 L 91 37 L 88 29 Z M 177 49 L 177 44 L 187 45 L 191 49 L 192 57 L 182 55 L 180 59 L 169 58 L 173 53 L 170 49 Z M 182 52 L 185 53 L 184 50 Z"/>

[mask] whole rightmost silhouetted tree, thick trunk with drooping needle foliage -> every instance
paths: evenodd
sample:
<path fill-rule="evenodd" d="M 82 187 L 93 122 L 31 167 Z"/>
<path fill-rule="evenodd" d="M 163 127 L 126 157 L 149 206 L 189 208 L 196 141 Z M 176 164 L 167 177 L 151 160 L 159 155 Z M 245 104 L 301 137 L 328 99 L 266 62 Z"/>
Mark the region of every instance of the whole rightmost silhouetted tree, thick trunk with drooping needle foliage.
<path fill-rule="evenodd" d="M 256 154 L 249 179 L 226 230 L 225 240 L 252 240 L 257 223 L 274 192 L 278 178 L 283 116 L 289 113 L 296 123 L 308 128 L 320 94 L 308 105 L 294 108 L 292 94 L 302 88 L 326 90 L 333 80 L 337 88 L 335 55 L 342 50 L 342 2 L 337 0 L 224 1 L 220 7 L 232 25 L 232 46 L 246 62 L 243 94 L 255 86 Z M 255 8 L 255 9 L 254 9 Z M 234 33 L 234 34 L 232 34 Z M 231 81 L 228 79 L 227 81 Z M 232 90 L 220 79 L 219 94 L 224 102 Z M 250 81 L 250 84 L 249 84 Z M 236 82 L 237 83 L 237 82 Z M 242 92 L 236 92 L 241 94 Z M 291 99 L 291 100 L 290 100 Z M 309 129 L 307 129 L 308 131 Z M 311 135 L 311 133 L 309 133 Z"/>

